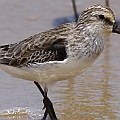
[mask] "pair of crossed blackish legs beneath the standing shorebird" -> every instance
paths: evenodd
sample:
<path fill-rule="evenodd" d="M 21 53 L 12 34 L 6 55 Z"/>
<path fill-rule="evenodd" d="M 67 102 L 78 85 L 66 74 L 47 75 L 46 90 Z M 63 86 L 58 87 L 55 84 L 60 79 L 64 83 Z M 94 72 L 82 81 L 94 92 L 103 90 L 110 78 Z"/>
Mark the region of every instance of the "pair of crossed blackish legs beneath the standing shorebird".
<path fill-rule="evenodd" d="M 41 88 L 41 86 L 39 85 L 38 82 L 34 81 L 35 85 L 38 87 L 38 89 L 40 90 L 42 96 L 44 97 L 43 99 L 43 103 L 44 103 L 44 108 L 46 108 L 46 111 L 44 113 L 44 116 L 42 118 L 42 120 L 45 120 L 47 117 L 47 114 L 49 114 L 51 120 L 58 120 L 53 108 L 53 104 L 50 101 L 50 99 L 47 97 L 47 89 L 45 89 L 43 91 L 43 89 Z"/>

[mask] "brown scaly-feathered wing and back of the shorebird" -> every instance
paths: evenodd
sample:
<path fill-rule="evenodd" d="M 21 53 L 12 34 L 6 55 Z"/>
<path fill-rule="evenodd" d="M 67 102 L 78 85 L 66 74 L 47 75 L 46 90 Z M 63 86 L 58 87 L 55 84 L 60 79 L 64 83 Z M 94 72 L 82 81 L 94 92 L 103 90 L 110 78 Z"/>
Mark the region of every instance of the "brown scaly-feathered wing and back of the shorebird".
<path fill-rule="evenodd" d="M 73 23 L 64 24 L 18 43 L 0 46 L 0 63 L 21 67 L 64 60 L 67 57 L 67 34 L 73 26 Z"/>

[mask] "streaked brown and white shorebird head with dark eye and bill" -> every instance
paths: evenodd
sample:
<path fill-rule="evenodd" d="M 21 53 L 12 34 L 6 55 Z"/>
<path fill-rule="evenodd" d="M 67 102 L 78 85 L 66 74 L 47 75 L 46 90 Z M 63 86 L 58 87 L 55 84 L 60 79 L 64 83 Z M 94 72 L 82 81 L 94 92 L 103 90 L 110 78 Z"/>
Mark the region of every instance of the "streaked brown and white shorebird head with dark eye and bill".
<path fill-rule="evenodd" d="M 76 26 L 82 25 L 88 27 L 94 32 L 118 33 L 120 30 L 115 21 L 113 11 L 104 5 L 93 5 L 85 9 L 79 17 Z"/>

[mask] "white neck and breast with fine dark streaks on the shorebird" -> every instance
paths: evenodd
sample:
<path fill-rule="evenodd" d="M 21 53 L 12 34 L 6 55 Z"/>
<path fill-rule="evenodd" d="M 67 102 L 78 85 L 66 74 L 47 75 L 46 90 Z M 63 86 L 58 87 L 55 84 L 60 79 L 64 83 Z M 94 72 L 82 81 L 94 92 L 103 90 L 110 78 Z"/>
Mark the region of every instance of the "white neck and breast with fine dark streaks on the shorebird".
<path fill-rule="evenodd" d="M 93 59 L 95 59 L 103 51 L 108 38 L 109 35 L 99 33 L 99 31 L 97 32 L 90 28 L 75 29 L 74 36 L 70 42 L 72 49 L 70 51 L 74 50 L 71 54 L 81 57 L 83 54 L 89 53 L 90 55 L 93 54 Z"/>

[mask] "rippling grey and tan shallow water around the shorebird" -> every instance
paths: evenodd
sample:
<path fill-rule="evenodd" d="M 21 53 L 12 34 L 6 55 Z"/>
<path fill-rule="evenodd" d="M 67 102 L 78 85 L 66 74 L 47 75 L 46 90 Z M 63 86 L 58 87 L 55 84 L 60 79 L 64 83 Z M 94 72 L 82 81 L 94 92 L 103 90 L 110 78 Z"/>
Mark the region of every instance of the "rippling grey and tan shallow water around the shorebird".
<path fill-rule="evenodd" d="M 78 12 L 96 0 L 76 0 Z M 104 0 L 101 2 L 104 4 Z M 119 0 L 110 6 L 120 18 Z M 0 44 L 20 41 L 73 18 L 70 0 L 0 0 Z M 59 19 L 58 19 L 59 18 Z M 120 37 L 111 35 L 98 60 L 82 75 L 51 86 L 49 97 L 59 120 L 120 119 Z M 0 71 L 0 120 L 40 119 L 42 96 L 33 82 Z"/>

